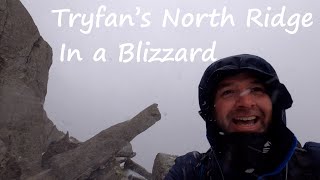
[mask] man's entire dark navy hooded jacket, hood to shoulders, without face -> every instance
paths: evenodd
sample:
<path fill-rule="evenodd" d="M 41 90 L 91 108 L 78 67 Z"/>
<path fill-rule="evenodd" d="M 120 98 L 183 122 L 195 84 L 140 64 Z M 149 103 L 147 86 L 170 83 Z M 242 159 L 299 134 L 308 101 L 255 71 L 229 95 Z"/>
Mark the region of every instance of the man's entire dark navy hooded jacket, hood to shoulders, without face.
<path fill-rule="evenodd" d="M 212 116 L 212 96 L 217 84 L 244 71 L 264 82 L 272 99 L 272 123 L 266 133 L 225 133 Z M 166 180 L 320 179 L 320 145 L 311 143 L 310 148 L 308 143 L 301 148 L 286 127 L 285 110 L 291 107 L 292 98 L 264 59 L 242 54 L 212 63 L 199 84 L 199 105 L 211 147 L 206 153 L 191 152 L 178 157 Z"/>

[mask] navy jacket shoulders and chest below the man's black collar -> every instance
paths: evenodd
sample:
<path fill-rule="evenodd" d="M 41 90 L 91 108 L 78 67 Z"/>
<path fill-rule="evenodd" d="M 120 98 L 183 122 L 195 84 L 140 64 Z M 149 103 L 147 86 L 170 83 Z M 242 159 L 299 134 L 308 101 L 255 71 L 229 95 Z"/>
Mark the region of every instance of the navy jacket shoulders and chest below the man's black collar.
<path fill-rule="evenodd" d="M 165 180 L 228 180 L 217 167 L 212 149 L 207 153 L 190 152 L 175 160 L 175 165 Z M 234 179 L 260 180 L 320 180 L 320 144 L 309 142 L 294 153 L 278 171 L 261 174 L 257 177 L 237 177 Z"/>

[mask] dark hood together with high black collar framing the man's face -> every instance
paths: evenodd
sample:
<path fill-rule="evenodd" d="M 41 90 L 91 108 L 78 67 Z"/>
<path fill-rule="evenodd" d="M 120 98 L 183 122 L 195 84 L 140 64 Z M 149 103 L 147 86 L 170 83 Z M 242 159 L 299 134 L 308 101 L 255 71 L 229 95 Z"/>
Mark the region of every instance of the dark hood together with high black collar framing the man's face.
<path fill-rule="evenodd" d="M 272 100 L 272 121 L 264 133 L 225 133 L 212 116 L 218 83 L 240 72 L 250 72 L 261 80 Z M 258 56 L 231 56 L 206 69 L 199 84 L 199 113 L 206 122 L 207 138 L 213 154 L 217 154 L 216 161 L 223 162 L 220 171 L 226 179 L 252 179 L 252 174 L 243 173 L 248 168 L 254 168 L 261 177 L 278 174 L 285 168 L 297 145 L 294 134 L 286 127 L 285 110 L 292 102 L 274 68 Z"/>

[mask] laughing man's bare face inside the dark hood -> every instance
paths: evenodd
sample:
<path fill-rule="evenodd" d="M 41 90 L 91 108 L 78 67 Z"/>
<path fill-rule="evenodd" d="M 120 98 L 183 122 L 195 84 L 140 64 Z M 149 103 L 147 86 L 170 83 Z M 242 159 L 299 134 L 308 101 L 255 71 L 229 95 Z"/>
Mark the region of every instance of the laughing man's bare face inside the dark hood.
<path fill-rule="evenodd" d="M 264 85 L 250 73 L 223 79 L 214 95 L 213 114 L 225 132 L 265 132 L 272 102 Z"/>

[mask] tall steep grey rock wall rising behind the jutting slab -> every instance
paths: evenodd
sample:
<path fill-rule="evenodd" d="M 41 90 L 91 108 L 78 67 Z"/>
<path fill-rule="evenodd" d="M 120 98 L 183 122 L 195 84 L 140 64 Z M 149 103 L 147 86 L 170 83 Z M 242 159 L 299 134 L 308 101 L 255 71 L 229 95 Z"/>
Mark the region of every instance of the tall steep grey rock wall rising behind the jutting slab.
<path fill-rule="evenodd" d="M 22 178 L 37 173 L 42 152 L 63 136 L 43 109 L 51 56 L 20 1 L 0 0 L 0 140 Z"/>

